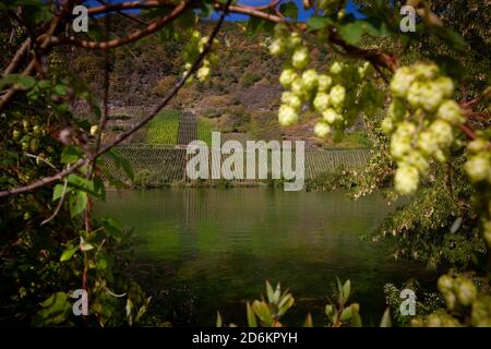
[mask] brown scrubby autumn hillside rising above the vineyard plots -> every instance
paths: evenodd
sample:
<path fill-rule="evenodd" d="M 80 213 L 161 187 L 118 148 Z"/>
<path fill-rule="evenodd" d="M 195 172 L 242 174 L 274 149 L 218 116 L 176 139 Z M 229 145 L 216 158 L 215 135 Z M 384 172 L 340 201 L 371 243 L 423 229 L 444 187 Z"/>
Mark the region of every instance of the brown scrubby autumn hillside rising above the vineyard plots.
<path fill-rule="evenodd" d="M 118 20 L 113 31 L 124 22 Z M 137 25 L 133 24 L 132 25 Z M 209 31 L 203 23 L 201 31 Z M 211 128 L 224 133 L 247 133 L 250 139 L 302 139 L 311 147 L 366 147 L 369 145 L 360 125 L 356 125 L 340 144 L 313 136 L 315 115 L 302 111 L 303 122 L 292 128 L 280 128 L 276 110 L 282 86 L 278 75 L 283 62 L 272 57 L 264 44 L 265 35 L 248 35 L 241 23 L 226 23 L 218 40 L 219 63 L 213 68 L 212 79 L 205 84 L 192 83 L 183 87 L 170 108 L 190 111 L 200 120 L 207 119 Z M 110 98 L 111 122 L 109 133 L 120 132 L 155 105 L 183 72 L 180 56 L 181 40 L 164 34 L 131 44 L 113 51 L 111 57 Z M 103 57 L 96 51 L 74 50 L 69 53 L 71 69 L 92 82 L 100 93 Z M 312 67 L 321 67 L 328 59 L 325 47 L 312 51 Z M 77 106 L 77 109 L 81 106 Z M 123 120 L 118 116 L 123 116 Z M 110 134 L 107 137 L 111 137 Z M 142 142 L 142 136 L 136 136 Z"/>

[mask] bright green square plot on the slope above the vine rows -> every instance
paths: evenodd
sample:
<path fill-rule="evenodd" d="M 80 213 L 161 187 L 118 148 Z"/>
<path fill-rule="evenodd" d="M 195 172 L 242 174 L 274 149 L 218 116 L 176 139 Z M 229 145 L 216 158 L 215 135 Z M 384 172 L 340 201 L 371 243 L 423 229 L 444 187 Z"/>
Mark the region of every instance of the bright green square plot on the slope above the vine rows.
<path fill-rule="evenodd" d="M 163 110 L 149 122 L 145 143 L 175 145 L 178 137 L 180 116 L 181 112 L 178 110 Z"/>

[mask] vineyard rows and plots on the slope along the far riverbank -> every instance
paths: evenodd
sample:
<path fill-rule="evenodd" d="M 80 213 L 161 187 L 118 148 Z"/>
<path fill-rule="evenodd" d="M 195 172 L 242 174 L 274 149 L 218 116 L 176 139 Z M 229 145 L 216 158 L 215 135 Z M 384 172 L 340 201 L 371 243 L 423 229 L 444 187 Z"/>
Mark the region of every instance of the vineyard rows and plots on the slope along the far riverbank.
<path fill-rule="evenodd" d="M 214 124 L 206 118 L 196 117 L 192 112 L 178 110 L 164 110 L 152 122 L 142 130 L 129 144 L 121 145 L 116 152 L 125 157 L 133 166 L 135 172 L 134 186 L 159 186 L 175 182 L 191 182 L 185 174 L 187 160 L 193 155 L 187 155 L 183 145 L 194 140 L 204 141 L 212 145 L 212 131 Z M 227 141 L 238 141 L 246 149 L 247 141 L 250 140 L 247 133 L 221 133 L 221 143 Z M 208 173 L 213 171 L 221 173 L 221 164 L 229 157 L 220 154 L 219 149 L 215 156 L 209 154 Z M 285 154 L 285 153 L 284 153 Z M 288 164 L 291 161 L 291 169 L 295 169 L 296 155 L 291 152 Z M 253 158 L 255 176 L 253 180 L 247 179 L 248 157 Z M 333 148 L 333 149 L 306 149 L 304 169 L 306 180 L 315 179 L 326 172 L 334 172 L 336 169 L 362 167 L 369 157 L 366 148 Z M 265 160 L 263 160 L 265 159 Z M 109 158 L 105 159 L 111 174 L 117 179 L 129 182 L 129 178 L 121 170 L 113 166 Z M 283 159 L 285 161 L 285 159 Z M 272 179 L 272 154 L 271 152 L 255 152 L 243 154 L 243 179 L 233 179 L 233 182 L 260 183 Z M 232 173 L 221 173 L 223 177 L 232 178 Z M 260 174 L 262 178 L 259 179 Z M 264 177 L 267 177 L 265 179 Z"/>

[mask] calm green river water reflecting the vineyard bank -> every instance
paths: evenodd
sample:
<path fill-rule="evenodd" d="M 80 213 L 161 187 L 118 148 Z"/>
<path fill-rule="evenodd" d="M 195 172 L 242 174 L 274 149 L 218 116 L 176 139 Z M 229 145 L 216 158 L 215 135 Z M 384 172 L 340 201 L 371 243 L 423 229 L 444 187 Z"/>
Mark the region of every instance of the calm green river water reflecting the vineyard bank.
<path fill-rule="evenodd" d="M 371 241 L 391 209 L 379 194 L 236 188 L 109 192 L 97 210 L 134 229 L 130 273 L 172 325 L 213 326 L 217 311 L 243 325 L 246 301 L 268 279 L 296 299 L 285 323 L 301 325 L 310 311 L 321 326 L 336 276 L 351 280 L 366 325 L 382 316 L 386 282 L 433 282 L 422 265 L 395 262 L 386 242 Z"/>

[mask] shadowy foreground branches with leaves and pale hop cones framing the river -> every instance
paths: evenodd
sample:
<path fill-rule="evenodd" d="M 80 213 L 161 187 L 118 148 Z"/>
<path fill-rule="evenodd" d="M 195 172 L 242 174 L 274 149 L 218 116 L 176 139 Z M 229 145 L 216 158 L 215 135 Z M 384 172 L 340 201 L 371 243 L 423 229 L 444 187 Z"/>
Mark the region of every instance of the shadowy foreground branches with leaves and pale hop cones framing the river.
<path fill-rule="evenodd" d="M 399 245 L 409 241 L 412 256 L 423 253 L 431 261 L 434 257 L 431 243 L 446 241 L 445 245 L 457 244 L 465 248 L 463 251 L 477 252 L 479 257 L 484 256 L 484 264 L 489 264 L 491 133 L 486 109 L 490 98 L 490 89 L 486 88 L 489 71 L 470 71 L 458 79 L 458 72 L 452 70 L 453 63 L 469 49 L 464 38 L 469 40 L 476 57 L 486 62 L 490 58 L 489 47 L 481 49 L 488 44 L 484 32 L 468 31 L 468 23 L 478 14 L 459 11 L 467 5 L 466 1 L 452 4 L 407 1 L 406 4 L 414 5 L 420 15 L 416 33 L 399 32 L 400 17 L 396 10 L 402 1 L 363 3 L 360 19 L 346 14 L 346 1 L 304 1 L 306 7 L 315 10 L 306 23 L 297 21 L 298 8 L 292 1 L 272 1 L 264 7 L 230 0 L 226 3 L 207 0 L 99 2 L 99 5 L 91 5 L 72 0 L 37 3 L 11 0 L 0 5 L 2 19 L 8 19 L 2 21 L 0 41 L 11 57 L 2 58 L 0 80 L 0 112 L 3 113 L 0 122 L 9 134 L 0 141 L 1 227 L 9 232 L 1 243 L 1 255 L 10 261 L 2 264 L 1 272 L 12 278 L 11 286 L 1 290 L 1 297 L 5 303 L 23 300 L 16 305 L 21 309 L 36 308 L 36 303 L 46 299 L 33 320 L 21 315 L 20 321 L 48 325 L 74 321 L 69 315 L 67 294 L 77 281 L 96 300 L 92 321 L 101 325 L 119 324 L 122 306 L 125 308 L 122 317 L 130 325 L 141 320 L 148 300 L 136 285 L 115 278 L 123 258 L 116 252 L 123 232 L 113 220 L 96 221 L 92 217 L 93 197 L 104 197 L 103 176 L 112 184 L 122 184 L 105 169 L 100 157 L 106 155 L 130 178 L 133 176 L 129 163 L 113 152 L 113 147 L 149 122 L 185 82 L 193 77 L 204 82 L 209 77 L 217 63 L 215 51 L 219 49 L 215 38 L 230 12 L 250 16 L 249 32 L 271 33 L 271 53 L 286 61 L 279 79 L 286 89 L 278 110 L 282 124 L 297 122 L 302 106 L 318 111 L 314 131 L 320 137 L 339 140 L 358 118 L 367 121 L 380 152 L 366 176 L 355 178 L 359 194 L 386 186 L 393 180 L 393 193 L 416 193 L 410 205 L 416 205 L 423 214 L 408 216 L 409 205 L 392 217 L 386 230 L 392 229 L 398 236 Z M 72 9 L 81 3 L 87 5 L 93 19 L 86 35 L 70 29 Z M 478 7 L 486 10 L 489 1 Z M 128 17 L 121 12 L 128 9 L 142 11 L 141 16 L 130 15 L 141 27 L 130 27 L 125 35 L 112 38 L 113 16 Z M 203 35 L 194 23 L 213 12 L 219 13 L 219 17 L 211 33 Z M 484 26 L 489 23 L 487 13 L 479 12 Z M 99 15 L 104 19 L 94 20 Z M 459 24 L 464 37 L 446 27 L 447 22 Z M 164 39 L 170 35 L 185 38 L 183 75 L 148 116 L 112 142 L 104 143 L 109 51 L 156 33 Z M 337 58 L 322 70 L 311 69 L 309 40 L 330 47 Z M 432 50 L 435 45 L 438 49 Z M 103 52 L 105 74 L 100 103 L 86 84 L 63 70 L 62 53 L 73 47 Z M 482 74 L 486 79 L 478 81 Z M 81 99 L 92 107 L 98 119 L 96 124 L 91 125 L 87 120 L 77 120 L 71 115 L 70 104 Z M 385 117 L 381 118 L 382 115 Z M 442 207 L 445 204 L 451 206 Z M 422 218 L 427 209 L 439 207 L 440 216 L 432 212 L 430 219 Z M 452 216 L 459 220 L 452 224 L 448 220 Z M 448 225 L 459 231 L 458 239 L 441 231 Z M 439 232 L 442 233 L 436 236 Z M 406 240 L 410 234 L 417 239 Z M 39 257 L 33 261 L 33 256 Z M 479 261 L 476 264 L 477 272 L 489 273 L 488 265 Z M 64 284 L 60 282 L 60 276 Z M 24 279 L 33 281 L 24 285 Z M 458 292 L 469 290 L 466 281 L 458 279 L 456 286 L 451 284 L 442 281 L 441 287 L 446 296 L 454 294 L 447 297 L 447 303 L 454 302 L 450 309 L 455 308 L 455 299 L 467 308 L 477 302 L 481 308 L 488 306 L 489 300 L 477 291 L 470 291 L 476 297 L 459 296 Z M 462 285 L 467 288 L 462 290 Z M 127 290 L 128 294 L 124 299 L 115 297 L 112 287 Z M 68 290 L 60 292 L 60 289 Z"/>

